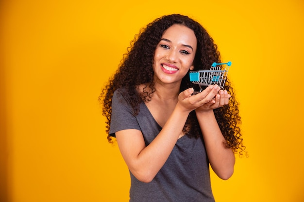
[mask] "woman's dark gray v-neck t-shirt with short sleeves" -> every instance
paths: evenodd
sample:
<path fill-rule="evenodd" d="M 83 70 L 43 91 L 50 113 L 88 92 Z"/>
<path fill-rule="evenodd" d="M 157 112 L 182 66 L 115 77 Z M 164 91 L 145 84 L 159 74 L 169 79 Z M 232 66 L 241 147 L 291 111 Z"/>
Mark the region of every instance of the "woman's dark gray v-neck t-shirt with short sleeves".
<path fill-rule="evenodd" d="M 134 115 L 123 89 L 112 98 L 110 135 L 124 129 L 137 129 L 146 145 L 161 131 L 147 106 L 142 102 Z M 203 138 L 183 136 L 177 140 L 168 160 L 152 182 L 143 183 L 131 175 L 130 202 L 214 202 L 209 162 Z"/>

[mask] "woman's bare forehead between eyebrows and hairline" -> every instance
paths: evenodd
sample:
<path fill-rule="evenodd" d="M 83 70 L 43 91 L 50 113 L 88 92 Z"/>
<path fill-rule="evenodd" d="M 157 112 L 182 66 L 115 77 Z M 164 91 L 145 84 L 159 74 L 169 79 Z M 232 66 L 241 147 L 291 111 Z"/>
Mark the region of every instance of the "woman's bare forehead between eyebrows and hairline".
<path fill-rule="evenodd" d="M 174 24 L 164 31 L 162 38 L 169 39 L 172 42 L 181 42 L 194 46 L 197 43 L 195 33 L 185 25 Z"/>

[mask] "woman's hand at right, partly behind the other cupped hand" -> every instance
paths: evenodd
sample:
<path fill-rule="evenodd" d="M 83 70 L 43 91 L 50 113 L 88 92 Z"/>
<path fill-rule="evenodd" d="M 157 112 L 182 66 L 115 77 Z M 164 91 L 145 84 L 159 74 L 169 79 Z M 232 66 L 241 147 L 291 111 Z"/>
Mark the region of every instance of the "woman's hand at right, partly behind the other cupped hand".
<path fill-rule="evenodd" d="M 220 87 L 216 87 L 220 89 Z M 208 111 L 211 109 L 217 109 L 223 107 L 224 105 L 228 105 L 229 98 L 231 94 L 229 94 L 226 90 L 220 90 L 219 93 L 215 95 L 215 97 L 208 103 L 203 104 L 201 107 L 197 108 L 197 111 Z"/>

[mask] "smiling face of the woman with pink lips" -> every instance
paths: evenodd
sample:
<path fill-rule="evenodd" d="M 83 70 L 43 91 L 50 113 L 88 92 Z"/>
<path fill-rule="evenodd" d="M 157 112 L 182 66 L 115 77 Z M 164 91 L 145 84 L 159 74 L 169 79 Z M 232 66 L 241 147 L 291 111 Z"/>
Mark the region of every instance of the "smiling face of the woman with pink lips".
<path fill-rule="evenodd" d="M 164 31 L 153 60 L 155 82 L 181 83 L 189 70 L 197 47 L 194 31 L 184 25 L 174 24 Z"/>

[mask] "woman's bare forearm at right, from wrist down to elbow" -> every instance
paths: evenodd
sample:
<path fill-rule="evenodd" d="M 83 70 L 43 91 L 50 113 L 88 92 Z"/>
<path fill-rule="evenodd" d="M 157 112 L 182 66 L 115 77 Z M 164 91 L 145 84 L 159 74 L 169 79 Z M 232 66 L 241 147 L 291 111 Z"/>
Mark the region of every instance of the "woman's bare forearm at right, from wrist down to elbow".
<path fill-rule="evenodd" d="M 223 137 L 213 110 L 196 112 L 210 165 L 221 179 L 228 179 L 234 171 L 235 155 Z"/>

